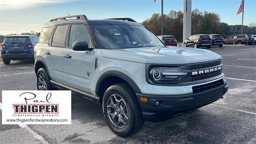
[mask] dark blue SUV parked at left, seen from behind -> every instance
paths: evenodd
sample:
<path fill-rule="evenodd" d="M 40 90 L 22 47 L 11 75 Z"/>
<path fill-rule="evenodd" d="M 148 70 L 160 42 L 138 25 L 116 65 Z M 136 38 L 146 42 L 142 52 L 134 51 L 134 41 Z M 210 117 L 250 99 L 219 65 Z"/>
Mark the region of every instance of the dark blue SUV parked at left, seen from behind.
<path fill-rule="evenodd" d="M 34 46 L 37 43 L 38 36 L 5 36 L 1 48 L 4 64 L 10 64 L 11 60 L 34 60 Z"/>

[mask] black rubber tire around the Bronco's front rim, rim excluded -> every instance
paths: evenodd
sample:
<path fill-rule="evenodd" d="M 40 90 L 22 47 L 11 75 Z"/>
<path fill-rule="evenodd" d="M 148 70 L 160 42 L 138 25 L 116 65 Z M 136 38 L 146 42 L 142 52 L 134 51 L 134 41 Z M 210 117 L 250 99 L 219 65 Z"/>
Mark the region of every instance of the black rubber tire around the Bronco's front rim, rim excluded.
<path fill-rule="evenodd" d="M 123 98 L 129 111 L 128 120 L 122 129 L 114 126 L 108 117 L 107 101 L 113 94 L 118 94 Z M 102 107 L 108 127 L 118 136 L 131 136 L 132 134 L 139 132 L 144 125 L 144 119 L 142 118 L 142 110 L 140 108 L 138 98 L 136 97 L 134 90 L 126 83 L 119 83 L 110 86 L 104 93 Z"/>

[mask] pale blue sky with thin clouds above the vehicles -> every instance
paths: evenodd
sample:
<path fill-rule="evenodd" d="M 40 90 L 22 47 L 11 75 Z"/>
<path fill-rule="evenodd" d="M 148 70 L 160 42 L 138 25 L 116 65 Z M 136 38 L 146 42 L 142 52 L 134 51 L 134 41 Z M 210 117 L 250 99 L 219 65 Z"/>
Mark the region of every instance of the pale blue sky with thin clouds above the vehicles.
<path fill-rule="evenodd" d="M 242 24 L 242 0 L 192 0 L 192 10 L 214 12 L 221 22 Z M 183 0 L 164 0 L 164 14 L 183 11 Z M 142 22 L 161 13 L 161 0 L 0 0 L 0 34 L 41 32 L 52 18 L 85 14 L 88 19 L 132 18 Z M 244 25 L 256 22 L 256 0 L 244 2 Z"/>

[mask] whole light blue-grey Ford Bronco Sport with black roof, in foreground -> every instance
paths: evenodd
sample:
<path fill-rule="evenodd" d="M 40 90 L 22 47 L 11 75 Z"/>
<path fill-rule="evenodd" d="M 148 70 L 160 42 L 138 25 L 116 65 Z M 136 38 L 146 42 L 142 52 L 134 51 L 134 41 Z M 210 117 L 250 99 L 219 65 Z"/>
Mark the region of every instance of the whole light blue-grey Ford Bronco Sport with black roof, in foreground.
<path fill-rule="evenodd" d="M 144 120 L 196 110 L 228 90 L 220 55 L 168 47 L 130 18 L 52 19 L 34 55 L 38 90 L 71 90 L 100 104 L 109 128 L 123 137 L 140 131 Z"/>

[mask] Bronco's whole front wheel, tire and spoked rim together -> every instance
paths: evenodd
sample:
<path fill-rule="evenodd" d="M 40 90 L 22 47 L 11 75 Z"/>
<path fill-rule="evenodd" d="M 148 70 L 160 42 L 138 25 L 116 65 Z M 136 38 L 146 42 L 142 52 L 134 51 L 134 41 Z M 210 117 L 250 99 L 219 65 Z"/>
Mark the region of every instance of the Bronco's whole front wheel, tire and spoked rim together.
<path fill-rule="evenodd" d="M 110 86 L 104 93 L 102 103 L 108 127 L 118 136 L 130 136 L 143 127 L 140 104 L 128 84 Z"/>

